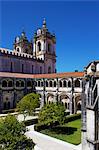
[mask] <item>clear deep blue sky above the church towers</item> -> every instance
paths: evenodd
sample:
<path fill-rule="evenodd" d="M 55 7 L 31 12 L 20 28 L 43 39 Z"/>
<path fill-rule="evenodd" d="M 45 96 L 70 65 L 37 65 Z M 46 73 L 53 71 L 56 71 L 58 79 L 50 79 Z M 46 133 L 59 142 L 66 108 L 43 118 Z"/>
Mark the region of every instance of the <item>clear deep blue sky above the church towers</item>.
<path fill-rule="evenodd" d="M 15 36 L 25 30 L 28 39 L 46 18 L 56 34 L 57 71 L 83 71 L 99 60 L 99 2 L 0 1 L 0 47 L 13 48 Z"/>

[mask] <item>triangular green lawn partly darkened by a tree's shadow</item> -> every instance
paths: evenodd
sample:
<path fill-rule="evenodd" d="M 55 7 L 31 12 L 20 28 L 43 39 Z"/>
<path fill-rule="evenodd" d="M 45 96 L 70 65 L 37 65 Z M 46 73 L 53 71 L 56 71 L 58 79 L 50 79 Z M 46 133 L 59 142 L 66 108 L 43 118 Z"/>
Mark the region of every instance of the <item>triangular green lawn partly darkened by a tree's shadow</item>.
<path fill-rule="evenodd" d="M 40 131 L 43 134 L 55 137 L 57 139 L 78 145 L 81 143 L 81 120 L 75 120 L 53 129 Z"/>

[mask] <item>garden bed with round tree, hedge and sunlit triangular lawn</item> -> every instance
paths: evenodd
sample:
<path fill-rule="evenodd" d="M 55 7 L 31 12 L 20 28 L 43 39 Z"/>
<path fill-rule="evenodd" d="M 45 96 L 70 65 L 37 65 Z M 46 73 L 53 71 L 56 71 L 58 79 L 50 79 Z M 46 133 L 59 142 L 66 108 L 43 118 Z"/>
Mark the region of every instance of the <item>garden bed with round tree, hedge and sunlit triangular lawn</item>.
<path fill-rule="evenodd" d="M 66 116 L 61 104 L 47 104 L 39 113 L 35 130 L 78 145 L 81 143 L 81 114 Z"/>

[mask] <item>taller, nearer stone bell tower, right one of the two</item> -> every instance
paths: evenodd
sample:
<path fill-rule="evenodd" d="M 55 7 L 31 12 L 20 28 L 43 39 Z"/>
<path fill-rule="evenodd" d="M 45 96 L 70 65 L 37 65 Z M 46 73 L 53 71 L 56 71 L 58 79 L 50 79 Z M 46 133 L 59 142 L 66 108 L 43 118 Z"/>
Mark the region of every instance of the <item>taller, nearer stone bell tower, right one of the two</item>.
<path fill-rule="evenodd" d="M 33 56 L 44 60 L 45 73 L 56 72 L 56 37 L 51 34 L 43 20 L 42 28 L 39 28 L 34 34 Z"/>

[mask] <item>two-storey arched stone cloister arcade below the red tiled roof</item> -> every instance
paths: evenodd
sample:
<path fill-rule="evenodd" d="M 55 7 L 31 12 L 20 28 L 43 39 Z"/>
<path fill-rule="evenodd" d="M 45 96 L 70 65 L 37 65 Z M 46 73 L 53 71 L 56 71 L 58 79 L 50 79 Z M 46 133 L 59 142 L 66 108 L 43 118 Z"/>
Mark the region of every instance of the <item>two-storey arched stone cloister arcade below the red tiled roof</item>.
<path fill-rule="evenodd" d="M 0 81 L 0 89 L 3 91 L 2 93 L 4 93 L 1 96 L 3 99 L 2 107 L 3 109 L 11 109 L 15 107 L 17 100 L 20 100 L 25 94 L 35 91 L 40 94 L 40 101 L 44 101 L 45 93 L 45 103 L 59 101 L 65 106 L 67 111 L 70 111 L 72 88 L 74 88 L 73 107 L 74 112 L 76 113 L 78 110 L 81 110 L 81 78 L 74 78 L 73 81 L 71 80 L 71 78 L 2 78 Z M 79 95 L 75 96 L 75 94 L 77 93 Z M 6 95 L 6 97 L 4 95 Z"/>

